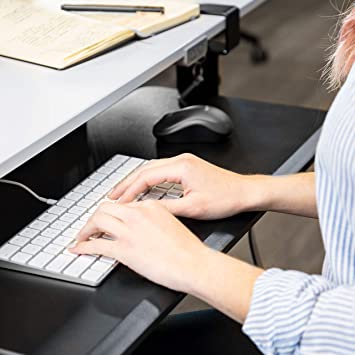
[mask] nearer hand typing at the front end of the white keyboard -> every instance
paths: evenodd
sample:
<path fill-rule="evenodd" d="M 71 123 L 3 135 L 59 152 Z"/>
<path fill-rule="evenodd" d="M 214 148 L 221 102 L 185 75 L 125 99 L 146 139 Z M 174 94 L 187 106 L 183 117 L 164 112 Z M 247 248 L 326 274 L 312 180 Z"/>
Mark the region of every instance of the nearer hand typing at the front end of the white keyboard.
<path fill-rule="evenodd" d="M 88 240 L 96 233 L 113 240 Z M 77 240 L 73 253 L 117 259 L 149 280 L 182 292 L 189 292 L 198 280 L 208 249 L 156 201 L 102 203 Z"/>

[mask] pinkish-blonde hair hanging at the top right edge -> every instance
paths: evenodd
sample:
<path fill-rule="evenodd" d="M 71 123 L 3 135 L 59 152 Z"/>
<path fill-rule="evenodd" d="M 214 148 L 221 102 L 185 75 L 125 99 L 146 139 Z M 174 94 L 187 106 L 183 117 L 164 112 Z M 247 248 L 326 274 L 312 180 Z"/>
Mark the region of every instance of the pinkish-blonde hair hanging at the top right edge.
<path fill-rule="evenodd" d="M 334 48 L 324 70 L 331 90 L 339 89 L 355 63 L 355 2 L 343 16 Z"/>

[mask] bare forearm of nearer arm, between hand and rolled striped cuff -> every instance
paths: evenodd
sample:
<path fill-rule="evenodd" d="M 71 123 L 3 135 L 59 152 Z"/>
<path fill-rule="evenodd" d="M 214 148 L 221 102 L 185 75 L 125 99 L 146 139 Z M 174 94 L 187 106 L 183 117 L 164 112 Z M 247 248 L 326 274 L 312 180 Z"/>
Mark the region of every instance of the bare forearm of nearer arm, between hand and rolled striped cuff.
<path fill-rule="evenodd" d="M 260 268 L 206 247 L 191 270 L 184 291 L 243 323 L 254 283 L 262 272 Z"/>

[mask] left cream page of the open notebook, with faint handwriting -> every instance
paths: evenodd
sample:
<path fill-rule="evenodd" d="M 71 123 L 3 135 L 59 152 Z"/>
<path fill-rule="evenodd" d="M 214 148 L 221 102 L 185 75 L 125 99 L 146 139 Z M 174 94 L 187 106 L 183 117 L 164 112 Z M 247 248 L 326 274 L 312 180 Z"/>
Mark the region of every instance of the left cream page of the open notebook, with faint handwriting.
<path fill-rule="evenodd" d="M 0 1 L 0 54 L 63 68 L 134 34 L 118 25 L 52 11 L 35 1 Z M 91 53 L 92 54 L 92 53 Z"/>

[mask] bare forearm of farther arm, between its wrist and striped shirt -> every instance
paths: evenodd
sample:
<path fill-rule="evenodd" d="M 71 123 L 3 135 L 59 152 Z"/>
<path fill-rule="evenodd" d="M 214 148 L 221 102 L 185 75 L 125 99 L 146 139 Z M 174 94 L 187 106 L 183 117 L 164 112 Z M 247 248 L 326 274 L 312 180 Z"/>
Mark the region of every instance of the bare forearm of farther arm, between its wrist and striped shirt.
<path fill-rule="evenodd" d="M 250 190 L 246 210 L 318 217 L 313 172 L 287 176 L 256 175 L 246 179 Z"/>

